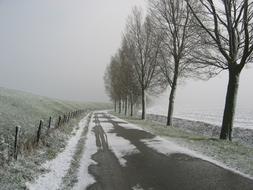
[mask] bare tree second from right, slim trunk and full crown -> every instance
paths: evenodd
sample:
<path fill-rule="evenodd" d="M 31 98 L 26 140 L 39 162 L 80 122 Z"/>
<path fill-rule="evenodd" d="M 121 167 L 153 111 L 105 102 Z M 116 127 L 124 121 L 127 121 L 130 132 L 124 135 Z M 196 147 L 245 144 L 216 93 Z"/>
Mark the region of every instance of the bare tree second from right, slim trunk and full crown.
<path fill-rule="evenodd" d="M 149 6 L 156 29 L 163 31 L 159 67 L 171 89 L 167 115 L 167 125 L 171 126 L 179 78 L 208 78 L 211 75 L 206 73 L 212 72 L 207 67 L 197 68 L 191 59 L 191 51 L 199 46 L 199 39 L 187 3 L 183 0 L 150 0 Z"/>

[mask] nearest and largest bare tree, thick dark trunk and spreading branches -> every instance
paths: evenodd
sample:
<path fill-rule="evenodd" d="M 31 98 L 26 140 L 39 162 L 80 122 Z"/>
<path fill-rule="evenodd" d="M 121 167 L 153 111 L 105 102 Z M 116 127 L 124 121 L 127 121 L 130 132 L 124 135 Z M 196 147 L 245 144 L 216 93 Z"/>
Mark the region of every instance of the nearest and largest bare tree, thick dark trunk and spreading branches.
<path fill-rule="evenodd" d="M 220 139 L 231 140 L 240 73 L 252 60 L 253 2 L 199 0 L 195 10 L 191 0 L 185 1 L 202 29 L 203 46 L 209 47 L 196 51 L 196 60 L 229 73 Z"/>

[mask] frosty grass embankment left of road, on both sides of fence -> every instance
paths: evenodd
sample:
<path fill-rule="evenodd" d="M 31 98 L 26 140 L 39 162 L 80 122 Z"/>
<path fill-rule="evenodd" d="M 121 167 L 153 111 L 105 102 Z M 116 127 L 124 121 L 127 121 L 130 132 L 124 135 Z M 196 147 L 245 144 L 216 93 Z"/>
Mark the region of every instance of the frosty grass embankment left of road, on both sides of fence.
<path fill-rule="evenodd" d="M 67 140 L 73 135 L 73 128 L 78 127 L 80 119 L 88 113 L 88 110 L 110 107 L 111 105 L 107 103 L 62 101 L 0 88 L 0 189 L 25 189 L 25 182 L 46 172 L 40 168 L 41 164 L 55 158 L 65 148 Z M 2 159 L 13 147 L 16 125 L 21 126 L 21 136 L 26 138 L 36 132 L 40 119 L 47 122 L 52 116 L 54 124 L 59 115 L 77 109 L 84 109 L 86 113 L 53 130 L 35 150 L 20 154 L 17 161 L 5 162 Z M 11 147 L 8 148 L 9 146 Z"/>

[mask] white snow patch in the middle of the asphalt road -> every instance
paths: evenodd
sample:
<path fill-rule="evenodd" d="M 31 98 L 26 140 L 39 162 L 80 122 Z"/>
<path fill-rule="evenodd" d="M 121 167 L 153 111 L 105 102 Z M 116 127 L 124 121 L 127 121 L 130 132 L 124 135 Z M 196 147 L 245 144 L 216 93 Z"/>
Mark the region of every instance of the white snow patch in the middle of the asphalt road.
<path fill-rule="evenodd" d="M 114 129 L 111 123 L 101 123 L 108 137 L 108 144 L 115 156 L 118 158 L 121 166 L 125 167 L 127 160 L 124 158 L 127 155 L 139 153 L 139 150 L 123 137 L 117 136 L 115 133 L 110 133 Z"/>

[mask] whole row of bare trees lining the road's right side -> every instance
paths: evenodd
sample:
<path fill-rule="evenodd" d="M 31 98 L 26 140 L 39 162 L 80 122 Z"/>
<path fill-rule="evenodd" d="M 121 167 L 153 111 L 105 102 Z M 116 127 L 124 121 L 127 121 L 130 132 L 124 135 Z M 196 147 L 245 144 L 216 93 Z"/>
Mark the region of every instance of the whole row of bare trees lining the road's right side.
<path fill-rule="evenodd" d="M 145 93 L 170 87 L 167 125 L 173 125 L 180 81 L 228 70 L 220 138 L 231 140 L 240 73 L 252 61 L 252 21 L 248 0 L 149 0 L 145 16 L 135 7 L 127 20 L 121 48 L 106 70 L 106 91 L 115 105 L 129 99 L 133 105 L 140 97 L 145 119 Z"/>

